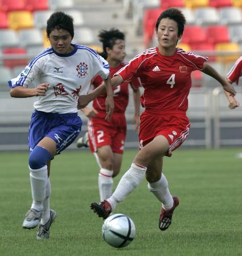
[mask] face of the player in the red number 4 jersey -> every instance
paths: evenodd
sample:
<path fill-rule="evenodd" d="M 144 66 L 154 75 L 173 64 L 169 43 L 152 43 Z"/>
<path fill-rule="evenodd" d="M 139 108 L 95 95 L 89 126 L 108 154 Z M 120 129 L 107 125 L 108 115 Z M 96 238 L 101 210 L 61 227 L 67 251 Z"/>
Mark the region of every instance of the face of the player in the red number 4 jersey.
<path fill-rule="evenodd" d="M 157 29 L 158 44 L 161 49 L 174 50 L 177 45 L 178 26 L 173 19 L 161 19 Z"/>

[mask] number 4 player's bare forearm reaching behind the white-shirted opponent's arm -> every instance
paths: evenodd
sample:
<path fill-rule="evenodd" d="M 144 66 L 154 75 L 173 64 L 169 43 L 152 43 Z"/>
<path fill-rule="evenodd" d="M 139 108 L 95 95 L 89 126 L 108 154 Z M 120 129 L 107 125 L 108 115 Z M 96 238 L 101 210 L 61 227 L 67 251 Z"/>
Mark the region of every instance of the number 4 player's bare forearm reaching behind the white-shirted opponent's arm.
<path fill-rule="evenodd" d="M 123 79 L 120 76 L 112 77 L 111 79 L 111 86 L 115 88 L 116 86 L 122 84 Z M 89 94 L 81 95 L 78 99 L 78 109 L 85 108 L 89 104 L 89 102 L 93 101 L 94 98 L 97 98 L 100 94 L 105 93 L 106 88 L 105 84 L 102 84 L 92 90 Z"/>

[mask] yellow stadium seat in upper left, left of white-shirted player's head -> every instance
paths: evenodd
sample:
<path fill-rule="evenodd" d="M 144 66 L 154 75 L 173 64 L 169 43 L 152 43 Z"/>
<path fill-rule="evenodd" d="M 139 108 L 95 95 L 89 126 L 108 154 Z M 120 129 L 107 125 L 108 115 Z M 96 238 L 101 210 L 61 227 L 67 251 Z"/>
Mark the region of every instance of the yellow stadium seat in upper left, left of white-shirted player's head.
<path fill-rule="evenodd" d="M 34 20 L 30 11 L 11 11 L 9 13 L 9 28 L 20 30 L 34 27 Z"/>

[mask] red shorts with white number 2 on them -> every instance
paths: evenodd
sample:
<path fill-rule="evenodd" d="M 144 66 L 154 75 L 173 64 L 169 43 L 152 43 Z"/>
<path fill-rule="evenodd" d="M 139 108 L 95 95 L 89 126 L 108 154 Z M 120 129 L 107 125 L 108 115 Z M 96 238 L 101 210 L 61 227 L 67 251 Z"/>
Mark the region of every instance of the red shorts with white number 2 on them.
<path fill-rule="evenodd" d="M 106 113 L 98 113 L 87 123 L 88 139 L 91 152 L 97 148 L 110 146 L 112 152 L 123 154 L 126 138 L 126 118 L 123 113 L 113 113 L 110 121 L 105 120 Z"/>

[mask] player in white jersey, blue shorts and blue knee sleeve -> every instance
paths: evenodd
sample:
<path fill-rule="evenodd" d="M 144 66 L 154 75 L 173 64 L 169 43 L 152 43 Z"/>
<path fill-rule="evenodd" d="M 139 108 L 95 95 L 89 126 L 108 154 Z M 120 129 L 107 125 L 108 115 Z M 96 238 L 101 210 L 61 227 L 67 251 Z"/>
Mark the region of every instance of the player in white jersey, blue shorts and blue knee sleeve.
<path fill-rule="evenodd" d="M 103 118 L 109 119 L 114 107 L 109 64 L 93 49 L 71 43 L 73 18 L 61 11 L 53 13 L 46 30 L 51 47 L 9 81 L 11 97 L 38 97 L 29 131 L 33 201 L 22 224 L 26 229 L 39 225 L 37 239 L 49 237 L 49 228 L 56 217 L 55 210 L 49 209 L 51 160 L 80 133 L 82 121 L 77 114 L 77 101 L 82 93 L 87 93 L 95 75 L 105 79 L 107 89 L 107 115 Z M 32 84 L 35 88 L 28 88 Z"/>

